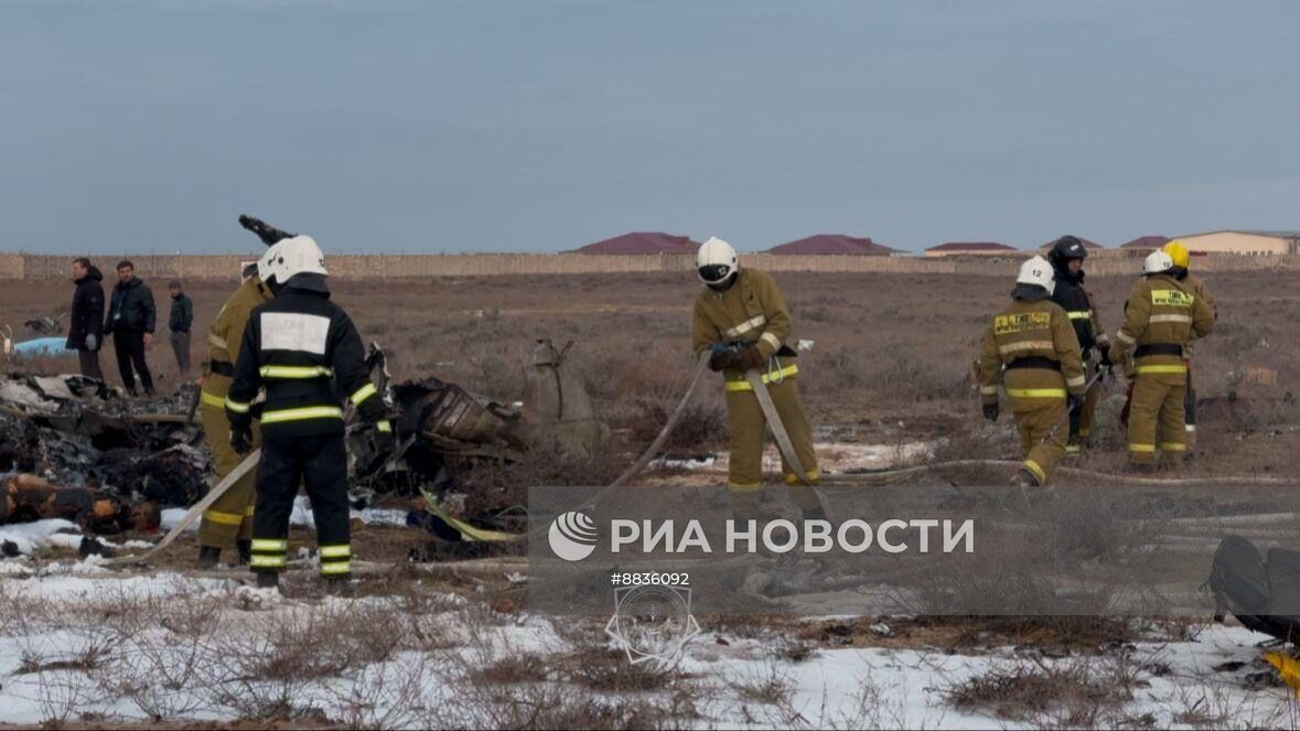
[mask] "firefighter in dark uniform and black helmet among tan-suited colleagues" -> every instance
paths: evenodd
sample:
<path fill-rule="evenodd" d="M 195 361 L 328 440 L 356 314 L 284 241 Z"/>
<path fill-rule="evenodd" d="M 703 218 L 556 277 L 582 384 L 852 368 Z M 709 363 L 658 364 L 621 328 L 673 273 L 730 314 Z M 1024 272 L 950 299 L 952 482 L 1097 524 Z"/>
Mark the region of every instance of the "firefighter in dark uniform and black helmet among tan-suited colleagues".
<path fill-rule="evenodd" d="M 1056 280 L 1056 289 L 1052 291 L 1052 302 L 1060 304 L 1065 313 L 1070 316 L 1074 325 L 1074 334 L 1079 338 L 1079 358 L 1083 360 L 1083 371 L 1092 371 L 1093 349 L 1097 350 L 1097 371 L 1110 368 L 1110 338 L 1106 337 L 1101 326 L 1101 316 L 1097 313 L 1096 299 L 1088 290 L 1083 289 L 1083 260 L 1088 258 L 1088 250 L 1083 242 L 1072 235 L 1063 235 L 1052 245 L 1048 252 L 1048 261 Z M 1101 398 L 1101 384 L 1093 384 L 1083 397 L 1083 403 L 1070 411 L 1070 436 L 1065 444 L 1067 455 L 1079 454 L 1088 434 L 1092 432 L 1092 414 Z"/>

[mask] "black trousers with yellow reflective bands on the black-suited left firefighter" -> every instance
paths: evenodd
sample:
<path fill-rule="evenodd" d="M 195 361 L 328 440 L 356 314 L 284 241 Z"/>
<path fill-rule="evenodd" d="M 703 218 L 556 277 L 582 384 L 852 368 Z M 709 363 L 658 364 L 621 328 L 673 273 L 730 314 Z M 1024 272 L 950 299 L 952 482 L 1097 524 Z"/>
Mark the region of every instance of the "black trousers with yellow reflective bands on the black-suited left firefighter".
<path fill-rule="evenodd" d="M 252 570 L 282 571 L 289 554 L 289 516 L 298 485 L 307 485 L 316 519 L 321 575 L 346 579 L 351 559 L 347 450 L 342 436 L 264 438 L 252 514 Z"/>

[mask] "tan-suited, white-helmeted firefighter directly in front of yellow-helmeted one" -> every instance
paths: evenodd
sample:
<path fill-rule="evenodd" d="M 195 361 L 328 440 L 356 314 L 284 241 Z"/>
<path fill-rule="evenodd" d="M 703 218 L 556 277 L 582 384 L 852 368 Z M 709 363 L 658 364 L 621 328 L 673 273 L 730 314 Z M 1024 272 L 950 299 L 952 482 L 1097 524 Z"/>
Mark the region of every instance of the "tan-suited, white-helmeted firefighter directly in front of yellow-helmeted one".
<path fill-rule="evenodd" d="M 1110 346 L 1112 363 L 1122 363 L 1134 349 L 1128 463 L 1135 470 L 1154 470 L 1157 451 L 1166 462 L 1187 451 L 1184 347 L 1213 329 L 1209 303 L 1175 277 L 1169 254 L 1150 252 L 1143 261 L 1143 278 L 1134 284 L 1124 303 L 1124 324 Z"/>

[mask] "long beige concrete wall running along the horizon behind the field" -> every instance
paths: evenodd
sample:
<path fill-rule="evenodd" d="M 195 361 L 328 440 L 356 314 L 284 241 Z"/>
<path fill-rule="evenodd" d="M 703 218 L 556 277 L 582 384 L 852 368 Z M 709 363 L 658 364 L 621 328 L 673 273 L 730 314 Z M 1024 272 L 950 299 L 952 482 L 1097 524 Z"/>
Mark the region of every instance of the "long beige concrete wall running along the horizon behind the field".
<path fill-rule="evenodd" d="M 945 274 L 968 273 L 1005 276 L 1028 256 L 837 256 L 742 254 L 742 265 L 768 272 L 826 273 L 898 273 Z M 92 256 L 112 276 L 112 267 L 121 259 L 135 263 L 136 273 L 148 280 L 237 280 L 246 255 L 169 255 L 169 256 Z M 66 280 L 73 256 L 34 254 L 0 254 L 0 280 L 46 281 Z M 330 276 L 339 280 L 491 277 L 506 274 L 592 274 L 592 273 L 660 273 L 690 272 L 694 258 L 670 255 L 589 255 L 589 254 L 421 254 L 421 255 L 334 255 L 328 259 Z M 1104 251 L 1088 258 L 1093 276 L 1135 274 L 1141 267 L 1141 254 Z M 1300 269 L 1300 254 L 1240 256 L 1210 254 L 1197 256 L 1195 267 L 1205 272 Z"/>

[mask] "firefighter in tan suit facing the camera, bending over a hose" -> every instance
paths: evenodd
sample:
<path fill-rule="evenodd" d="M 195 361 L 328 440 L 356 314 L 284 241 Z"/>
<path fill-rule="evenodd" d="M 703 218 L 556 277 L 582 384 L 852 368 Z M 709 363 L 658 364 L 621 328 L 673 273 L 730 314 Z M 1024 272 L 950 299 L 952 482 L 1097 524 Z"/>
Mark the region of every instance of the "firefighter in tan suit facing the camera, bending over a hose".
<path fill-rule="evenodd" d="M 732 509 L 740 518 L 754 518 L 759 515 L 767 420 L 753 386 L 745 379 L 746 371 L 758 369 L 762 373 L 762 382 L 790 437 L 803 473 L 812 484 L 820 480 L 812 451 L 812 428 L 800 401 L 796 351 L 785 345 L 790 334 L 790 313 L 772 277 L 757 269 L 741 269 L 736 250 L 720 238 L 710 238 L 699 247 L 696 268 L 706 287 L 696 295 L 690 345 L 697 355 L 714 349 L 708 367 L 723 373 L 731 433 L 728 488 Z M 811 485 L 801 484 L 784 454 L 781 468 L 790 498 L 803 511 L 805 519 L 824 519 L 826 511 L 816 492 Z"/>

